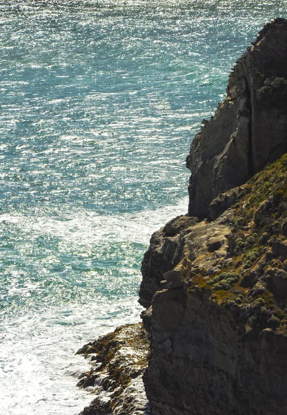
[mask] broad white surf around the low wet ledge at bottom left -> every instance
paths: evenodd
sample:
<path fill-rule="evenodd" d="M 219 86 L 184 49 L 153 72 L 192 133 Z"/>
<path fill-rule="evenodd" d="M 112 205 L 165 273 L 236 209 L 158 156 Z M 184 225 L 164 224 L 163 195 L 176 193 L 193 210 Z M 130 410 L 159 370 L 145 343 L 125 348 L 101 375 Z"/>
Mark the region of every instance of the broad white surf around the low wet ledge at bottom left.
<path fill-rule="evenodd" d="M 126 302 L 126 304 L 123 304 Z M 112 301 L 30 311 L 0 329 L 0 407 L 6 415 L 76 415 L 91 397 L 76 387 L 76 372 L 88 363 L 75 352 L 116 326 L 139 321 L 137 299 L 123 299 L 113 315 Z M 108 317 L 108 318 L 107 318 Z M 61 324 L 67 320 L 70 324 Z M 81 324 L 79 324 L 81 323 Z"/>

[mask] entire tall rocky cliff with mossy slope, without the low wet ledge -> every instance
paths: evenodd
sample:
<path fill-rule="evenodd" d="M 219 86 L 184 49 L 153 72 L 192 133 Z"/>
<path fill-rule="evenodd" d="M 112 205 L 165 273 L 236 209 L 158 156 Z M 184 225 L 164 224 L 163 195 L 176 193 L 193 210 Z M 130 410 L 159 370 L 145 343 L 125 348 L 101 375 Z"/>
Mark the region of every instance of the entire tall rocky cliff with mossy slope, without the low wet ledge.
<path fill-rule="evenodd" d="M 192 142 L 190 216 L 152 235 L 140 291 L 152 415 L 287 413 L 287 155 L 259 172 L 287 151 L 286 59 L 277 19 Z"/>

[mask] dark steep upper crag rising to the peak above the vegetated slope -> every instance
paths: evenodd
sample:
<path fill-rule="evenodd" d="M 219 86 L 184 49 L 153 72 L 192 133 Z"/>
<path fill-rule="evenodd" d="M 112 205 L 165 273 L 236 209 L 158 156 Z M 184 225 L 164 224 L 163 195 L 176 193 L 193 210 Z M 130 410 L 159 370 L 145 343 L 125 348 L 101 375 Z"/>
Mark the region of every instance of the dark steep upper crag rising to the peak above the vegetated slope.
<path fill-rule="evenodd" d="M 226 92 L 190 147 L 190 216 L 206 217 L 212 199 L 245 183 L 287 151 L 285 19 L 264 26 L 237 61 Z"/>

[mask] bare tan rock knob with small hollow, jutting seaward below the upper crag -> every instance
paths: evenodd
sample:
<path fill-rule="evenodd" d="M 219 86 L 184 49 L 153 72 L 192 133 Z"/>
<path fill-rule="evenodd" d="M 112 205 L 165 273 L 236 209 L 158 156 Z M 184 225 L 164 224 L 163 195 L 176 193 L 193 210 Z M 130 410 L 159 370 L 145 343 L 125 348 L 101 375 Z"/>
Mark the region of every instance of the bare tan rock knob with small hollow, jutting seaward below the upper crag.
<path fill-rule="evenodd" d="M 139 302 L 143 306 L 150 306 L 152 296 L 161 289 L 161 281 L 165 279 L 164 275 L 168 271 L 180 270 L 181 275 L 188 277 L 186 269 L 191 269 L 191 261 L 194 270 L 199 264 L 200 268 L 208 270 L 210 267 L 220 266 L 221 259 L 226 257 L 226 234 L 232 227 L 232 211 L 225 212 L 212 223 L 198 223 L 193 218 L 188 221 L 186 217 L 184 216 L 180 232 L 175 237 L 166 236 L 164 227 L 155 232 L 150 239 L 150 247 L 143 257 L 141 266 L 143 279 Z"/>

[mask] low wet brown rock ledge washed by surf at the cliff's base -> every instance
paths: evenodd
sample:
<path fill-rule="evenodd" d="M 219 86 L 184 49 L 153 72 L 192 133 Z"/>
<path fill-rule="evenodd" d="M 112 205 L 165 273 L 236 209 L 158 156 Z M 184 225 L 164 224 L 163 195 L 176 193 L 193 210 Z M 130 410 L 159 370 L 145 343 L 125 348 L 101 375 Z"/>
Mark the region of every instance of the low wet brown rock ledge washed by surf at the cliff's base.
<path fill-rule="evenodd" d="M 77 386 L 95 395 L 81 415 L 150 414 L 142 380 L 149 351 L 141 323 L 121 326 L 77 351 L 91 363 Z"/>

